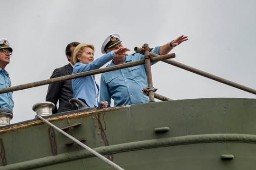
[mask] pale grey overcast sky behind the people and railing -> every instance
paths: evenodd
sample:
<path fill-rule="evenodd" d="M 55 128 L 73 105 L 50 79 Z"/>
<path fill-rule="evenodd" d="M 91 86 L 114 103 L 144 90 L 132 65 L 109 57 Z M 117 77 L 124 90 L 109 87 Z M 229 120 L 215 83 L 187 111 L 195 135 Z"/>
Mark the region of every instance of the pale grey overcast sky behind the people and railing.
<path fill-rule="evenodd" d="M 133 53 L 187 35 L 175 47 L 175 61 L 256 89 L 256 0 L 0 0 L 0 38 L 13 56 L 6 70 L 12 85 L 48 79 L 68 63 L 73 41 L 95 45 L 95 58 L 110 33 Z M 157 93 L 174 100 L 255 98 L 164 62 L 152 67 Z M 100 84 L 100 75 L 95 76 Z M 48 85 L 13 92 L 11 123 L 33 119 L 32 106 L 45 101 Z"/>

